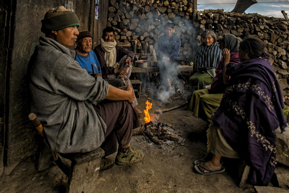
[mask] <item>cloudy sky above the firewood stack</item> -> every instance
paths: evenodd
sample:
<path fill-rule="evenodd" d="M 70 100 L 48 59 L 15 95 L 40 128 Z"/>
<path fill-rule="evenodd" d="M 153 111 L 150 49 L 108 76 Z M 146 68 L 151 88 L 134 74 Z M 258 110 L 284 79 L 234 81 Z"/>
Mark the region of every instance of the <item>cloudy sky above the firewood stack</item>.
<path fill-rule="evenodd" d="M 245 12 L 246 13 L 258 13 L 265 16 L 274 16 L 284 18 L 281 10 L 285 10 L 289 16 L 289 0 L 280 3 L 261 3 L 261 2 L 280 2 L 286 0 L 257 0 L 258 3 L 251 5 Z M 234 4 L 220 4 L 220 5 L 198 5 L 198 10 L 204 9 L 224 9 L 224 11 L 232 11 L 236 5 L 237 0 L 198 0 L 198 4 L 209 3 L 234 3 Z"/>

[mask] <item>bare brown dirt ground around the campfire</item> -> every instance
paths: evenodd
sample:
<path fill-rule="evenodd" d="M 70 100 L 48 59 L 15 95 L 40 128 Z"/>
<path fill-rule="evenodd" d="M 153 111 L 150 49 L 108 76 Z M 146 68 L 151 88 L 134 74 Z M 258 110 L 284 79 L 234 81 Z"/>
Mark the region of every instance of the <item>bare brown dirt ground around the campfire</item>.
<path fill-rule="evenodd" d="M 145 99 L 138 99 L 138 108 L 145 109 Z M 175 100 L 169 104 L 150 100 L 155 109 L 170 108 L 184 102 Z M 161 106 L 161 107 L 160 107 Z M 152 113 L 151 113 L 152 114 Z M 173 125 L 173 133 L 182 138 L 185 145 L 169 141 L 156 145 L 144 141 L 143 135 L 133 136 L 131 145 L 145 152 L 142 162 L 99 172 L 95 192 L 255 192 L 236 185 L 234 172 L 227 169 L 221 174 L 203 176 L 194 170 L 194 160 L 206 155 L 206 136 L 202 128 L 206 123 L 192 116 L 184 107 L 159 115 L 158 122 Z M 114 157 L 111 155 L 111 157 Z M 224 160 L 225 168 L 230 160 Z M 235 165 L 236 167 L 236 165 Z M 0 192 L 65 192 L 67 177 L 57 166 L 38 172 L 35 157 L 19 163 L 9 176 L 0 177 Z"/>

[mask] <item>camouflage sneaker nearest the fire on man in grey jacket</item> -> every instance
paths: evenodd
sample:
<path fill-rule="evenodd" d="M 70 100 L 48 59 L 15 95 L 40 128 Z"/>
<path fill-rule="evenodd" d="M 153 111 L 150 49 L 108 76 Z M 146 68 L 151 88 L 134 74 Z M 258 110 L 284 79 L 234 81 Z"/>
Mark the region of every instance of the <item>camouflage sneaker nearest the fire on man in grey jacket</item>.
<path fill-rule="evenodd" d="M 144 158 L 142 150 L 136 150 L 129 146 L 127 148 L 119 148 L 115 158 L 116 166 L 126 166 L 132 163 L 138 163 Z"/>

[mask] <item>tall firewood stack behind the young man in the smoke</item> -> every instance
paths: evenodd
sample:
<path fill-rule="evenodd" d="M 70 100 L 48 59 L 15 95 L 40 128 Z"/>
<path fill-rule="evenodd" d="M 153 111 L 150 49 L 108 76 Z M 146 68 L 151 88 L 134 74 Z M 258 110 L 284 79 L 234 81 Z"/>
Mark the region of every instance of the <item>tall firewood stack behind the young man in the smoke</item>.
<path fill-rule="evenodd" d="M 192 0 L 110 0 L 109 5 L 107 26 L 116 30 L 117 42 L 137 45 L 143 56 L 150 45 L 157 49 L 165 23 L 171 22 L 181 38 L 181 64 L 192 61 Z"/>

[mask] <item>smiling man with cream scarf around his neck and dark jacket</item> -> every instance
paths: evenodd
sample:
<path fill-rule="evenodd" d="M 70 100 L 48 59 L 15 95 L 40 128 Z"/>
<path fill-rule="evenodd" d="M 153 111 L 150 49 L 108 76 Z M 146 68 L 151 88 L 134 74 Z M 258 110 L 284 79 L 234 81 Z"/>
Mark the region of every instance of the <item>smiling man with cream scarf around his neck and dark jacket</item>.
<path fill-rule="evenodd" d="M 93 50 L 99 60 L 102 77 L 104 79 L 119 78 L 132 87 L 129 80 L 131 74 L 131 62 L 134 60 L 134 52 L 116 45 L 114 29 L 106 27 L 103 30 L 100 44 Z M 132 106 L 140 117 L 144 117 L 142 111 L 136 106 L 138 102 L 134 98 Z"/>

